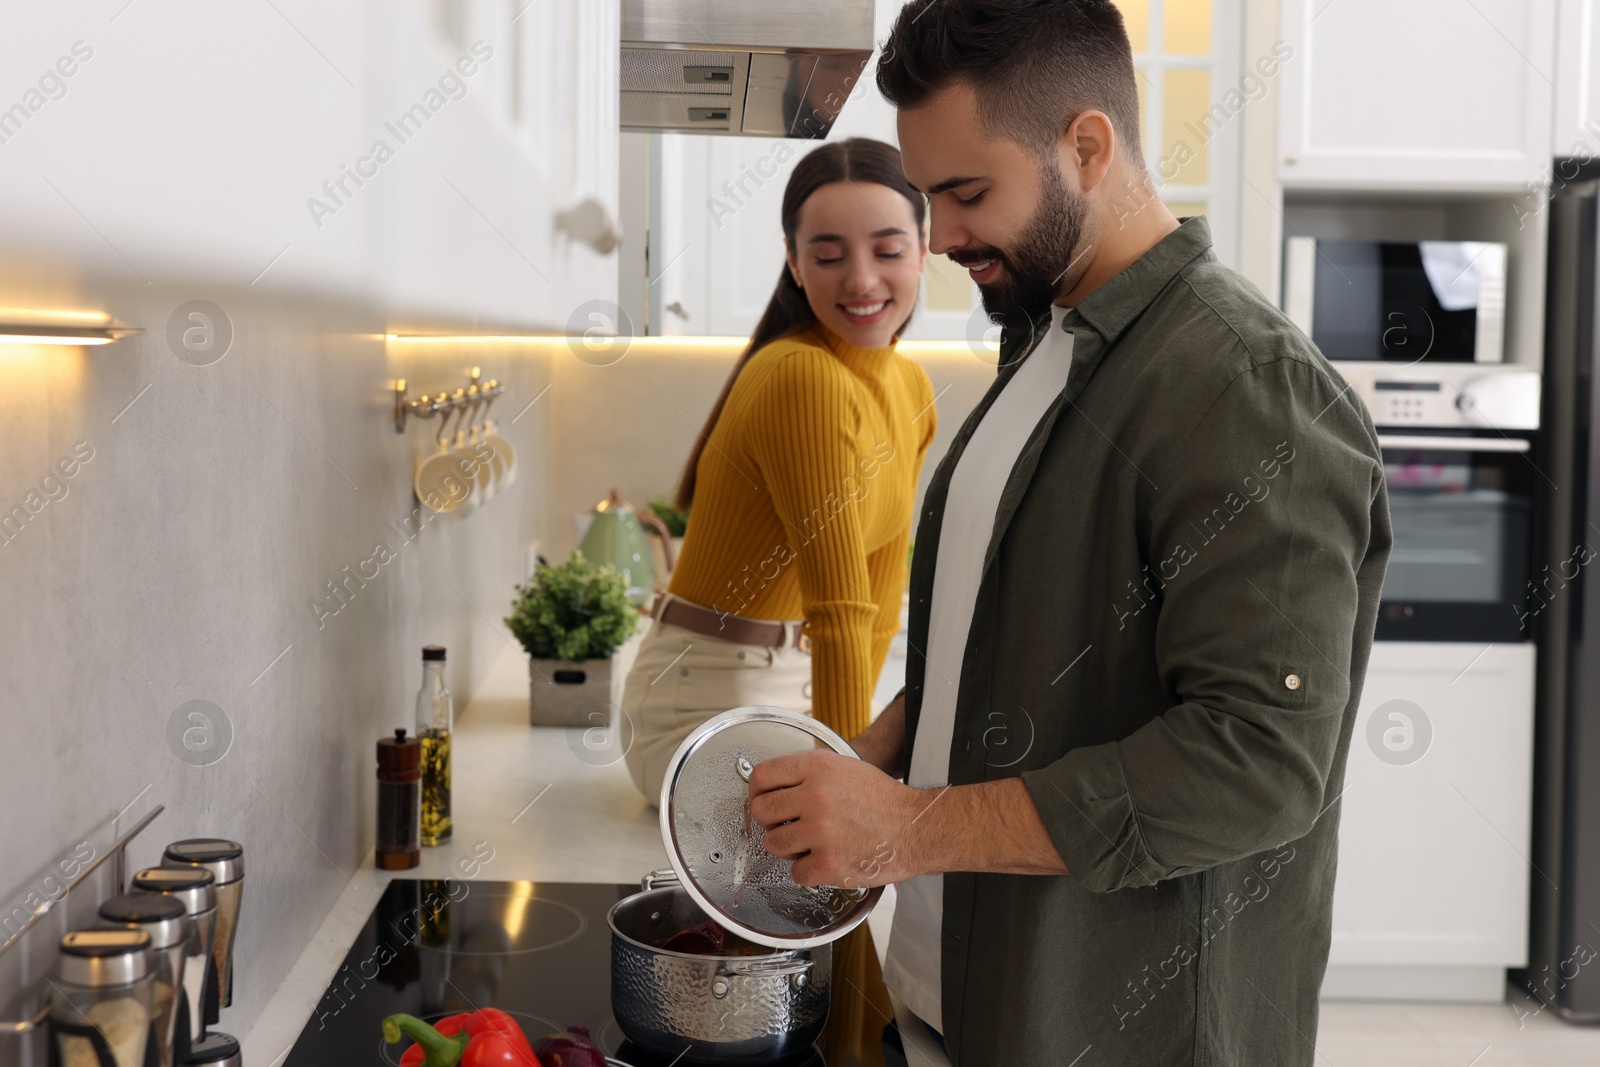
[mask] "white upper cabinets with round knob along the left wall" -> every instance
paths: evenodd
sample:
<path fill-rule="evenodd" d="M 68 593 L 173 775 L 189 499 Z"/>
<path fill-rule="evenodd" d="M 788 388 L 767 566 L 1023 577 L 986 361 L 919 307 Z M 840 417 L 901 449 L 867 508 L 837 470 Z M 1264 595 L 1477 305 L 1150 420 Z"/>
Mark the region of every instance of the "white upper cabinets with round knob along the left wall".
<path fill-rule="evenodd" d="M 72 277 L 358 296 L 400 331 L 558 331 L 616 288 L 614 258 L 554 218 L 586 197 L 614 210 L 621 10 L 515 13 L 139 3 L 91 32 L 30 5 L 0 69 L 34 70 L 26 88 L 75 40 L 91 54 L 70 96 L 0 130 L 5 251 Z"/>

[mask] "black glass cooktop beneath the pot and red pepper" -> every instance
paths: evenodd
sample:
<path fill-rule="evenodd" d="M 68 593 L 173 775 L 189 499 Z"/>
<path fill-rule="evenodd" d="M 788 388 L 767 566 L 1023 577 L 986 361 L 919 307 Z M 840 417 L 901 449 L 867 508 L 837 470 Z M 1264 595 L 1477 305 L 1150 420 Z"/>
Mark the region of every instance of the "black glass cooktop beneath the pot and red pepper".
<path fill-rule="evenodd" d="M 410 1041 L 384 1043 L 386 1016 L 434 1022 L 486 1006 L 515 1017 L 530 1040 L 584 1025 L 606 1056 L 667 1067 L 674 1061 L 635 1048 L 611 1016 L 605 917 L 634 893 L 637 885 L 395 878 L 283 1067 L 397 1067 Z M 790 1065 L 826 1061 L 813 1046 Z"/>

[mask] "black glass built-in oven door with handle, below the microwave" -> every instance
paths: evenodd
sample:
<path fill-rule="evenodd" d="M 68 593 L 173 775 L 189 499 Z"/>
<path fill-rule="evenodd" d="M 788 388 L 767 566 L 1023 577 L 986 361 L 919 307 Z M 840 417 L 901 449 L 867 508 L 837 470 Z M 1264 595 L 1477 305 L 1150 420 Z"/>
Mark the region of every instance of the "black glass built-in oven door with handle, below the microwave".
<path fill-rule="evenodd" d="M 1530 640 L 1533 432 L 1379 429 L 1378 443 L 1394 549 L 1376 640 Z"/>

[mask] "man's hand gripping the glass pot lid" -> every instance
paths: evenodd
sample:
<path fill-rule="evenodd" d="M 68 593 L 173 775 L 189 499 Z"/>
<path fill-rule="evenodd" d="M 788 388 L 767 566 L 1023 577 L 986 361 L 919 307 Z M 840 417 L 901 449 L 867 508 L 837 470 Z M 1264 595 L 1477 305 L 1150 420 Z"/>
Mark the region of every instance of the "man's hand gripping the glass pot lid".
<path fill-rule="evenodd" d="M 766 851 L 795 861 L 800 885 L 870 888 L 928 873 L 912 824 L 938 792 L 902 785 L 837 752 L 762 760 L 750 773 L 750 814 Z"/>

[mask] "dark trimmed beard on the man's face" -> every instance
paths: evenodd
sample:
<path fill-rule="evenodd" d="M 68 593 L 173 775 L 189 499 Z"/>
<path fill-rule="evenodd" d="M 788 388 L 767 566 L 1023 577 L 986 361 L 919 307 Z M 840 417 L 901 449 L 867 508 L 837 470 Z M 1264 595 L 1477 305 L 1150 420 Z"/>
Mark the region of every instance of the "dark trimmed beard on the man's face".
<path fill-rule="evenodd" d="M 1056 301 L 1061 280 L 1070 269 L 1083 238 L 1083 221 L 1088 218 L 1088 202 L 1072 192 L 1061 179 L 1056 163 L 1046 162 L 1040 173 L 1043 190 L 1038 208 L 1016 238 L 1011 251 L 989 250 L 979 254 L 962 250 L 960 262 L 1000 261 L 1002 277 L 978 286 L 984 310 L 990 322 L 1005 333 L 1005 339 L 1027 342 L 1034 322 L 1048 314 Z"/>

